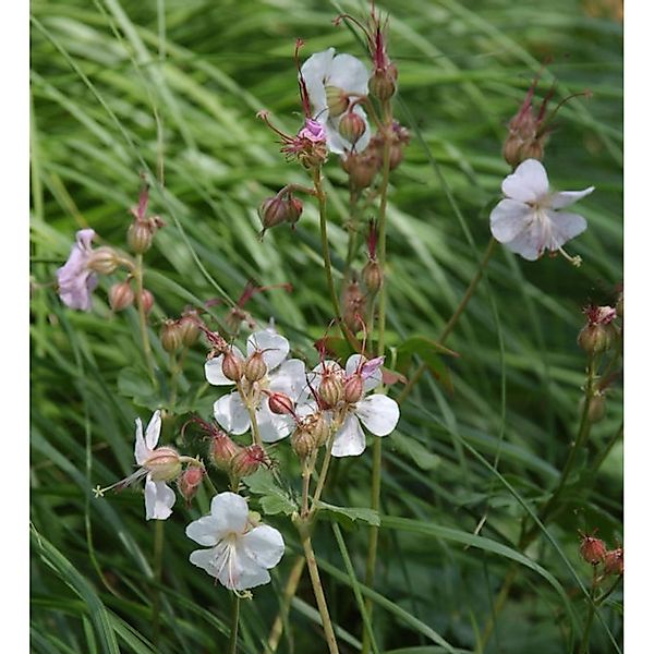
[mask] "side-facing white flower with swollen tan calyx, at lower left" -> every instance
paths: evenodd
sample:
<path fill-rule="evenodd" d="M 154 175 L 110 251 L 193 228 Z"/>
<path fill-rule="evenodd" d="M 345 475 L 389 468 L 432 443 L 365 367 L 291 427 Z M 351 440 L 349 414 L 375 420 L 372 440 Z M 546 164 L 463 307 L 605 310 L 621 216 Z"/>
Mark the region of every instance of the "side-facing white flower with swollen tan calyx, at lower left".
<path fill-rule="evenodd" d="M 166 485 L 179 476 L 181 472 L 180 457 L 169 447 L 157 448 L 161 433 L 161 413 L 155 411 L 143 437 L 143 423 L 136 419 L 136 444 L 134 458 L 141 465 L 133 475 L 124 480 L 124 484 L 145 476 L 145 517 L 147 520 L 166 520 L 172 513 L 174 505 L 174 491 Z"/>

